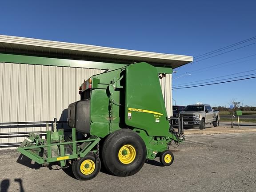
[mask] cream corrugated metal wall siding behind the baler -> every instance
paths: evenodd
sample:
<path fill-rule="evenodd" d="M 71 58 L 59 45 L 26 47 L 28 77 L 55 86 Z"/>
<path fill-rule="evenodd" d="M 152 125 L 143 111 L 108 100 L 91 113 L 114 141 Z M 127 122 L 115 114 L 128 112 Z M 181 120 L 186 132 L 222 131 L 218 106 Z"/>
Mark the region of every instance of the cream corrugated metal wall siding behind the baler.
<path fill-rule="evenodd" d="M 0 122 L 67 119 L 68 104 L 80 100 L 78 88 L 100 69 L 0 63 Z M 168 117 L 171 116 L 172 76 L 160 80 Z M 45 125 L 4 125 L 0 133 L 45 131 Z M 23 136 L 0 136 L 0 144 L 22 142 Z"/>

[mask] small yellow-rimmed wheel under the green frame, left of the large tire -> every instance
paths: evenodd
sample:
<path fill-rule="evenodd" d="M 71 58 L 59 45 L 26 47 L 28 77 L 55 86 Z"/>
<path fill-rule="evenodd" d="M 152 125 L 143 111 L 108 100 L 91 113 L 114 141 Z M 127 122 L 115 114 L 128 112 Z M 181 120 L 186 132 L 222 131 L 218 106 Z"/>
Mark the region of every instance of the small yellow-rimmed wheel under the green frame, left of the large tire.
<path fill-rule="evenodd" d="M 89 152 L 80 160 L 73 161 L 72 172 L 78 180 L 90 180 L 100 172 L 100 158 L 93 152 Z"/>

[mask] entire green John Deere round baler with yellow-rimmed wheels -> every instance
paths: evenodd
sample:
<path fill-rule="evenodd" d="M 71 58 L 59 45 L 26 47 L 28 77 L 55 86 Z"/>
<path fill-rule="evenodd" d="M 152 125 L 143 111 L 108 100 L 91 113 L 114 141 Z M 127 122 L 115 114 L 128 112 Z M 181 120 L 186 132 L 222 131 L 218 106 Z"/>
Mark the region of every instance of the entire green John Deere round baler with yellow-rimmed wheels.
<path fill-rule="evenodd" d="M 169 145 L 184 136 L 170 128 L 154 66 L 142 62 L 92 76 L 80 96 L 68 107 L 72 136 L 62 136 L 63 130 L 48 131 L 44 140 L 30 134 L 18 150 L 39 164 L 71 164 L 79 180 L 95 177 L 101 161 L 116 176 L 133 175 L 157 156 L 163 165 L 172 164 Z"/>

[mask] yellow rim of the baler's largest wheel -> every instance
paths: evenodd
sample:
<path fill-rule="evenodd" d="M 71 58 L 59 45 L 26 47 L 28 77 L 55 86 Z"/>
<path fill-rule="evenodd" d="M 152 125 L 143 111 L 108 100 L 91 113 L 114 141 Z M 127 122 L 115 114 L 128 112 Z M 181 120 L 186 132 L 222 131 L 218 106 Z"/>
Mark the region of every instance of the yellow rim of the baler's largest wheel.
<path fill-rule="evenodd" d="M 136 157 L 136 150 L 132 145 L 126 144 L 120 148 L 118 159 L 123 164 L 130 164 Z"/>

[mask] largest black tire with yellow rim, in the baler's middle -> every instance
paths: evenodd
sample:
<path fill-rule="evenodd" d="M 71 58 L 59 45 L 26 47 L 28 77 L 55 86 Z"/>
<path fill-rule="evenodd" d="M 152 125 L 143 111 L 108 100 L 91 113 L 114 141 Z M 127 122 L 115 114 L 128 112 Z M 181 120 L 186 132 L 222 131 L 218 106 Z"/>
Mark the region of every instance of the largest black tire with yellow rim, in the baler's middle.
<path fill-rule="evenodd" d="M 136 132 L 121 129 L 111 133 L 104 142 L 102 160 L 115 176 L 131 176 L 140 171 L 146 160 L 146 145 Z"/>

